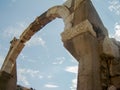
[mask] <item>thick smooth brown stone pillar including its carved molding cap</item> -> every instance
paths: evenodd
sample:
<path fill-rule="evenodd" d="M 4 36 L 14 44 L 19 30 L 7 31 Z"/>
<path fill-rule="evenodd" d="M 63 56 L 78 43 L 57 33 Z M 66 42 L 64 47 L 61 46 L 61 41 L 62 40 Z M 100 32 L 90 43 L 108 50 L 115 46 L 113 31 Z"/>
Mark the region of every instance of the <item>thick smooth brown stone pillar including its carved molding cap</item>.
<path fill-rule="evenodd" d="M 98 42 L 92 25 L 85 20 L 61 35 L 65 48 L 79 62 L 77 90 L 102 90 Z"/>

